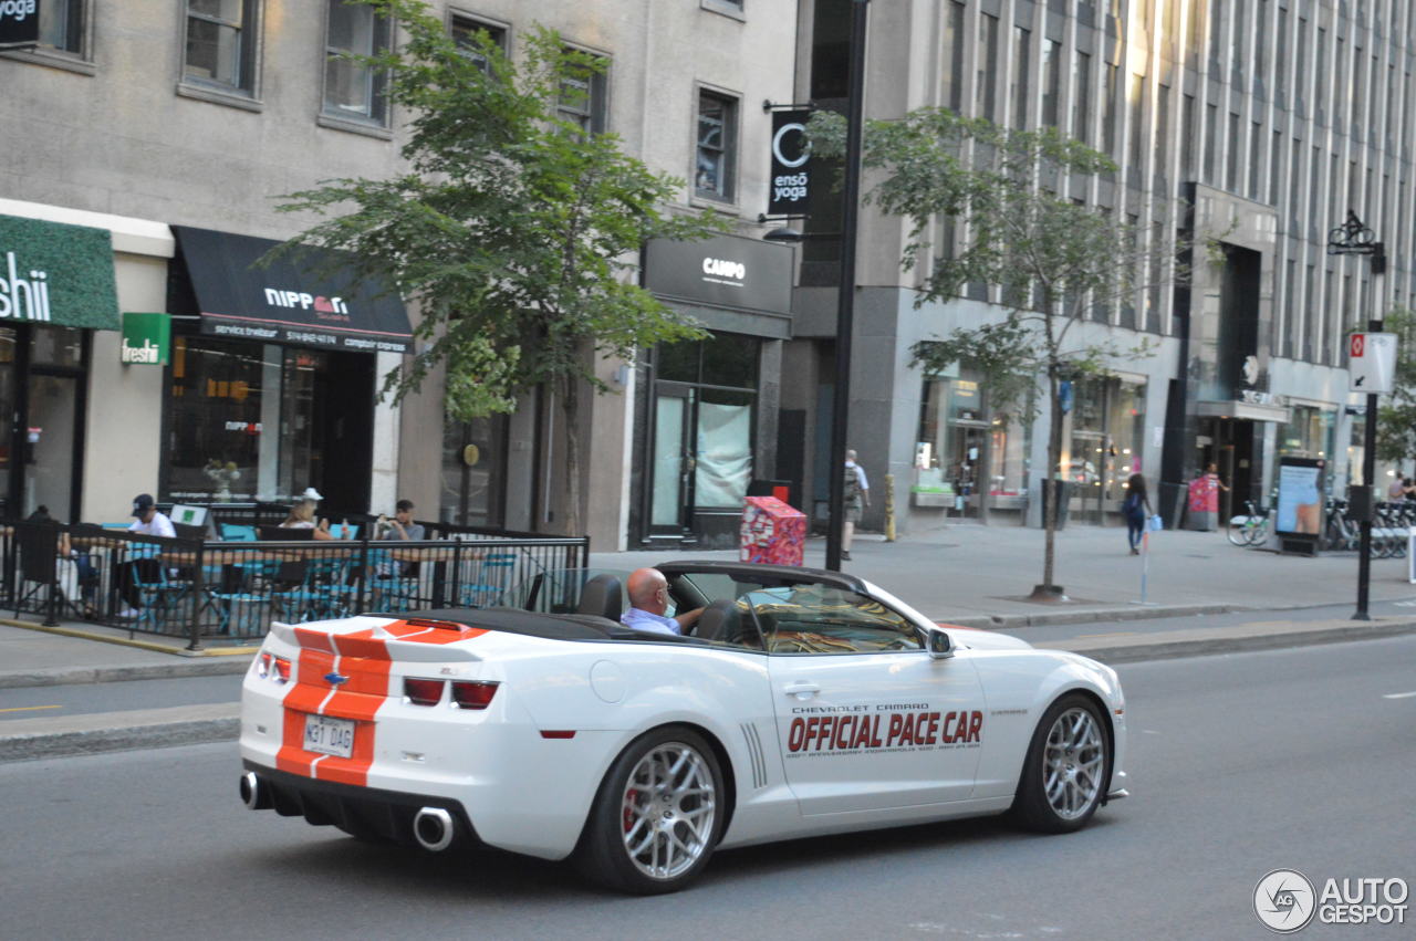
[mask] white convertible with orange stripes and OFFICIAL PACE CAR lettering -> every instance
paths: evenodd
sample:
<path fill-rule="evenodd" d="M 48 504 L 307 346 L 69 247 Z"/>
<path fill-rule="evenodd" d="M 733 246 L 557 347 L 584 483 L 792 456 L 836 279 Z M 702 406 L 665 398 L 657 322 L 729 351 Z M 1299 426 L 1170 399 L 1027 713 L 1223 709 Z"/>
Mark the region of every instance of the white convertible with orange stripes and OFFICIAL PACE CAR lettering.
<path fill-rule="evenodd" d="M 619 579 L 588 573 L 523 608 L 275 624 L 242 689 L 242 799 L 657 893 L 719 846 L 1010 809 L 1066 832 L 1126 794 L 1103 664 L 850 575 L 658 567 L 704 608 L 687 637 L 619 625 Z"/>

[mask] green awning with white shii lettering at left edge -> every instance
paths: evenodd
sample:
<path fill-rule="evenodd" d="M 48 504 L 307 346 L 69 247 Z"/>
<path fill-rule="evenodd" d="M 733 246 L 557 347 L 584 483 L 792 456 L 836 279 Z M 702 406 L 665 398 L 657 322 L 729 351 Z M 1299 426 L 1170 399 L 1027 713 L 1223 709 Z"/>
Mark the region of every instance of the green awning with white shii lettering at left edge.
<path fill-rule="evenodd" d="M 0 215 L 0 325 L 118 330 L 108 229 Z"/>

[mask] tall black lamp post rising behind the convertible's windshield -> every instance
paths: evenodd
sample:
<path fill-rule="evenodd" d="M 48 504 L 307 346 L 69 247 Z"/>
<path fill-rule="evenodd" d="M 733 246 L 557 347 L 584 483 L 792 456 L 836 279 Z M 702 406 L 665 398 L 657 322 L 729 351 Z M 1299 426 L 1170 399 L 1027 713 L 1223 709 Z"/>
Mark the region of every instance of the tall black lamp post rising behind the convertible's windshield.
<path fill-rule="evenodd" d="M 851 338 L 855 333 L 855 217 L 861 201 L 861 125 L 865 99 L 865 21 L 869 0 L 851 3 L 851 82 L 847 98 L 845 184 L 841 214 L 841 286 L 835 307 L 835 388 L 831 396 L 831 474 L 826 567 L 841 570 L 845 522 L 845 436 L 851 406 Z"/>

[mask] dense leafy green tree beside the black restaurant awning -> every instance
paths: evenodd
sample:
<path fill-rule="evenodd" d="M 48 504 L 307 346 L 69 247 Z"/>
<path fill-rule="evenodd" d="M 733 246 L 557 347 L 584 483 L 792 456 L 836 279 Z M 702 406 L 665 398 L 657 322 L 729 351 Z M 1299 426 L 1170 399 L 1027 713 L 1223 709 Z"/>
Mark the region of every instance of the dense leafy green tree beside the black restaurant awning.
<path fill-rule="evenodd" d="M 649 239 L 721 231 L 712 214 L 668 211 L 683 180 L 629 156 L 616 134 L 569 120 L 600 57 L 537 27 L 514 62 L 486 34 L 455 40 L 423 0 L 350 0 L 399 25 L 402 42 L 348 55 L 384 75 L 408 115 L 408 170 L 338 178 L 279 207 L 321 221 L 280 248 L 351 252 L 416 304 L 418 351 L 385 376 L 399 402 L 442 366 L 446 412 L 511 412 L 548 388 L 566 437 L 566 528 L 582 526 L 582 391 L 607 392 L 599 357 L 704 335 L 629 276 Z"/>

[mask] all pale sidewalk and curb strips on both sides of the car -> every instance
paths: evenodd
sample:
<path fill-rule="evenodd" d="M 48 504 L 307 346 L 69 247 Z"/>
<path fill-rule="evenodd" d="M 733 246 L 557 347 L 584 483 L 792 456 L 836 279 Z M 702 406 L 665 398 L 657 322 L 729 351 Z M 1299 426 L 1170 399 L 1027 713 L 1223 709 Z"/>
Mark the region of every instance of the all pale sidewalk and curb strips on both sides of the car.
<path fill-rule="evenodd" d="M 807 545 L 806 563 L 820 566 L 821 539 Z M 1068 604 L 1027 601 L 1042 575 L 1042 532 L 1017 526 L 957 525 L 910 533 L 898 542 L 857 536 L 845 570 L 899 596 L 940 621 L 993 627 L 1027 638 L 1028 627 L 1177 618 L 1157 633 L 1097 634 L 1039 647 L 1073 650 L 1106 662 L 1327 644 L 1416 631 L 1416 584 L 1406 560 L 1372 562 L 1372 603 L 1412 601 L 1410 616 L 1372 621 L 1273 620 L 1274 611 L 1354 604 L 1357 558 L 1277 556 L 1239 549 L 1223 533 L 1160 532 L 1150 555 L 1127 555 L 1124 529 L 1076 526 L 1058 533 L 1056 582 Z M 670 559 L 736 559 L 736 552 L 598 552 L 590 566 L 630 570 Z M 1147 604 L 1140 604 L 1148 566 Z M 1252 623 L 1195 627 L 1181 616 L 1256 611 Z M 1242 617 L 1242 616 L 1239 616 Z M 1325 616 L 1324 616 L 1325 617 Z M 1311 618 L 1311 616 L 1310 616 Z M 58 631 L 18 627 L 0 618 L 0 708 L 3 691 L 18 686 L 88 683 L 241 674 L 252 647 L 193 654 L 181 638 L 136 635 L 88 624 Z M 0 761 L 86 754 L 116 749 L 231 740 L 236 703 L 173 706 L 98 715 L 14 719 L 0 724 Z"/>

